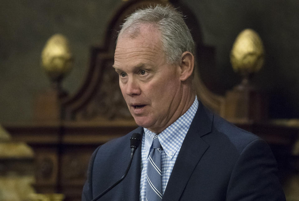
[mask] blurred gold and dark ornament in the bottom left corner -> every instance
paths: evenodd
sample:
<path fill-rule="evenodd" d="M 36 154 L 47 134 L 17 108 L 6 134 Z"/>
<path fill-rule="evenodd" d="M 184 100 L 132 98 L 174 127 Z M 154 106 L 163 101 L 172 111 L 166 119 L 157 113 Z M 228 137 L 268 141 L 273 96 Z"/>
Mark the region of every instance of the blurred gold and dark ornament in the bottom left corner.
<path fill-rule="evenodd" d="M 0 125 L 0 200 L 26 200 L 35 193 L 34 152 L 24 142 L 15 142 Z"/>

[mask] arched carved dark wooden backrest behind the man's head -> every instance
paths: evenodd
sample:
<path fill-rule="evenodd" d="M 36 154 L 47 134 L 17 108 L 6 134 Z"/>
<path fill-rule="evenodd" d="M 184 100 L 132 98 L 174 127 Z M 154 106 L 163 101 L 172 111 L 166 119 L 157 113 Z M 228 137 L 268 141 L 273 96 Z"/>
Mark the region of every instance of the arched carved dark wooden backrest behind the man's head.
<path fill-rule="evenodd" d="M 65 120 L 75 121 L 96 121 L 98 119 L 132 119 L 126 103 L 122 97 L 118 84 L 118 75 L 112 68 L 114 60 L 115 41 L 117 31 L 126 16 L 137 8 L 149 4 L 165 4 L 166 1 L 129 1 L 121 7 L 107 27 L 105 44 L 102 47 L 92 47 L 90 66 L 83 85 L 72 97 L 63 100 L 63 111 Z M 186 24 L 191 30 L 194 41 L 197 45 L 196 58 L 199 65 L 209 68 L 212 64 L 214 49 L 202 44 L 200 26 L 196 17 L 184 5 L 176 2 L 167 2 L 174 7 L 179 7 L 183 15 L 187 16 Z M 202 59 L 205 58 L 205 59 Z M 207 60 L 206 58 L 210 58 Z M 198 68 L 195 71 L 195 86 L 197 96 L 202 102 L 216 113 L 221 111 L 221 97 L 212 94 L 202 82 Z"/>

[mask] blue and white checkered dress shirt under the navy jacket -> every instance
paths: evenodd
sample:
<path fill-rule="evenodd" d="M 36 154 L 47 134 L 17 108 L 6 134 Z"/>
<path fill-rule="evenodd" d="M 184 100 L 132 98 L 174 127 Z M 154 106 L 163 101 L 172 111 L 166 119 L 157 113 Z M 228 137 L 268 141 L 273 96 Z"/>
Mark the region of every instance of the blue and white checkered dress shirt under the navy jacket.
<path fill-rule="evenodd" d="M 185 114 L 179 117 L 173 124 L 159 133 L 159 142 L 163 148 L 162 151 L 162 194 L 166 189 L 170 174 L 174 163 L 178 157 L 178 152 L 181 149 L 183 140 L 191 125 L 198 108 L 198 100 L 195 100 Z M 154 135 L 148 129 L 144 129 L 142 144 L 141 144 L 141 180 L 140 180 L 140 201 L 145 201 L 146 192 L 146 169 L 149 158 L 150 147 L 153 142 Z"/>

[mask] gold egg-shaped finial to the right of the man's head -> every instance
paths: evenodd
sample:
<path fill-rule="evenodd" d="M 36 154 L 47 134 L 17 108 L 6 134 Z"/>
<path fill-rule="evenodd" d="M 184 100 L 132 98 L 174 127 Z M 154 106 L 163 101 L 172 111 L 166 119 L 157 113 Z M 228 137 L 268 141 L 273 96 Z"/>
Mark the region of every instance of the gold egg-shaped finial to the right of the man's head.
<path fill-rule="evenodd" d="M 264 47 L 258 33 L 245 29 L 237 36 L 230 52 L 230 62 L 234 71 L 244 77 L 243 84 L 248 83 L 248 77 L 264 64 Z"/>

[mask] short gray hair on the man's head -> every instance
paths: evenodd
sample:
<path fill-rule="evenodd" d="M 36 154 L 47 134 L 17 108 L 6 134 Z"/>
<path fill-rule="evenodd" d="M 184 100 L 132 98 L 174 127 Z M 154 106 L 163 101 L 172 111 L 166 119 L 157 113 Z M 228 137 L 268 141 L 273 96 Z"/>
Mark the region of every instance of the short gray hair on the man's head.
<path fill-rule="evenodd" d="M 176 9 L 168 6 L 149 6 L 139 9 L 126 18 L 119 32 L 136 37 L 140 25 L 157 26 L 161 33 L 161 42 L 168 64 L 181 62 L 183 52 L 189 51 L 194 55 L 194 41 L 183 16 Z"/>

